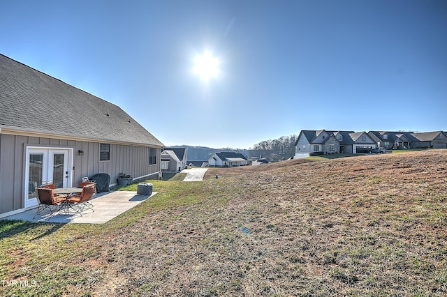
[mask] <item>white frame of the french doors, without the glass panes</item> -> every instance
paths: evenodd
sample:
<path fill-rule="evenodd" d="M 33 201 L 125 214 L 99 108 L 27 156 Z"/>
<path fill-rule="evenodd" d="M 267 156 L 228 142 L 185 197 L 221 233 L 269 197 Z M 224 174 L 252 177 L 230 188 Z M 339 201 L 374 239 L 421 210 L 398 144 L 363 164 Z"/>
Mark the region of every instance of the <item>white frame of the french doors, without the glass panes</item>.
<path fill-rule="evenodd" d="M 29 155 L 31 153 L 43 154 L 43 177 L 52 177 L 54 153 L 64 154 L 64 187 L 71 187 L 73 181 L 73 148 L 54 146 L 27 146 L 25 153 L 25 176 L 24 176 L 24 208 L 31 208 L 37 205 L 37 198 L 28 199 L 29 196 Z M 45 180 L 45 178 L 43 178 Z"/>

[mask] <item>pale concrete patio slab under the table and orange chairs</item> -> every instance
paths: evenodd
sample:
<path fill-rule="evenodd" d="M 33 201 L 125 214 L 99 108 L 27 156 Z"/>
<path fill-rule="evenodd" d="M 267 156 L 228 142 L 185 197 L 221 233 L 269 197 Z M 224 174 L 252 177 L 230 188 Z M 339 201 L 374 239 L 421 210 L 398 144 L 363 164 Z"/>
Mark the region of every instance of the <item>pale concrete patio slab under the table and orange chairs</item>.
<path fill-rule="evenodd" d="M 89 209 L 79 213 L 69 213 L 68 215 L 63 212 L 57 213 L 50 217 L 50 212 L 45 210 L 43 215 L 36 215 L 37 208 L 31 208 L 23 213 L 17 213 L 10 215 L 2 220 L 27 220 L 30 222 L 57 222 L 57 223 L 78 223 L 78 224 L 103 224 L 116 218 L 125 211 L 137 206 L 142 201 L 145 201 L 149 197 L 156 195 L 156 192 L 152 192 L 151 196 L 138 195 L 137 192 L 126 191 L 110 191 L 104 193 L 98 193 L 94 199 L 91 199 L 94 211 Z M 36 215 L 36 218 L 33 218 Z"/>

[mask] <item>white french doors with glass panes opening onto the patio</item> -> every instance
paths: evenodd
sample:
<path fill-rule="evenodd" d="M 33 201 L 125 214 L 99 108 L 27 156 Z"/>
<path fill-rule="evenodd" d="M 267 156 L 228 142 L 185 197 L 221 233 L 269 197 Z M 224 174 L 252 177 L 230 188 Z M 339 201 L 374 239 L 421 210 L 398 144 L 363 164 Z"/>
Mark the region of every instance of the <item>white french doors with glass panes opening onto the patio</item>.
<path fill-rule="evenodd" d="M 25 208 L 37 205 L 37 188 L 41 185 L 71 187 L 73 148 L 27 147 L 26 165 Z"/>

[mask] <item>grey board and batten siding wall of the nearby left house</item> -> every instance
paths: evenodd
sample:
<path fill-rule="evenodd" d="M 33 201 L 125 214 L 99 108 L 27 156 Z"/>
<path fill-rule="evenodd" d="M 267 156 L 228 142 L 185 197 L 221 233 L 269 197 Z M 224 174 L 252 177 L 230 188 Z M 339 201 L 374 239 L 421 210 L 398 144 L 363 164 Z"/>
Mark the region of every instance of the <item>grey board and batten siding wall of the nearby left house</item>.
<path fill-rule="evenodd" d="M 107 142 L 101 142 L 107 143 Z M 161 148 L 156 148 L 156 164 L 149 165 L 149 147 L 110 144 L 110 160 L 99 161 L 100 142 L 0 134 L 0 215 L 24 208 L 24 178 L 27 169 L 27 146 L 73 148 L 72 185 L 79 185 L 82 177 L 97 173 L 110 175 L 110 184 L 117 183 L 119 174 L 133 178 L 156 176 L 160 172 Z M 78 151 L 84 151 L 79 155 Z"/>

